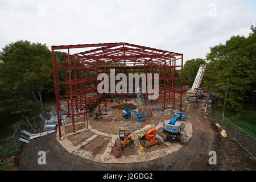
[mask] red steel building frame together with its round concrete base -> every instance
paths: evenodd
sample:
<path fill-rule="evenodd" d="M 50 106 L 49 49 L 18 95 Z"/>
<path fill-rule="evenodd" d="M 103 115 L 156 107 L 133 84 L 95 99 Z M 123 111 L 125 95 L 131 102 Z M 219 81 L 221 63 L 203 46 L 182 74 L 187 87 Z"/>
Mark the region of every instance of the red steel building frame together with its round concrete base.
<path fill-rule="evenodd" d="M 75 48 L 89 50 L 70 55 L 71 49 Z M 68 51 L 64 64 L 57 64 L 54 51 L 58 49 Z M 181 144 L 170 144 L 163 137 L 164 119 L 170 119 L 170 114 L 178 107 L 180 111 L 182 107 L 185 90 L 182 89 L 182 77 L 175 76 L 177 69 L 181 72 L 183 69 L 181 53 L 129 43 L 109 43 L 53 46 L 52 57 L 59 116 L 57 138 L 69 152 L 96 162 L 129 163 L 156 159 L 181 148 Z M 61 69 L 66 80 L 58 79 Z M 118 73 L 158 73 L 159 81 L 163 83 L 157 85 L 158 98 L 148 100 L 150 93 L 142 93 L 144 83 L 135 85 L 135 81 L 129 93 L 117 93 L 116 90 L 98 93 L 98 75 L 111 75 L 111 69 L 115 71 L 114 78 Z M 110 79 L 109 85 L 112 82 Z M 114 79 L 113 86 L 117 83 L 118 80 Z M 59 94 L 60 86 L 67 89 L 64 96 Z M 65 113 L 68 117 L 62 123 L 61 115 Z M 159 119 L 160 116 L 162 119 Z M 144 126 L 148 128 L 143 129 Z M 154 137 L 147 140 L 145 135 L 151 128 L 154 128 Z M 192 135 L 191 123 L 183 122 L 182 129 L 184 140 L 188 141 Z M 132 139 L 127 134 L 132 134 Z M 155 137 L 157 140 L 154 142 Z M 147 147 L 146 141 L 150 143 Z"/>

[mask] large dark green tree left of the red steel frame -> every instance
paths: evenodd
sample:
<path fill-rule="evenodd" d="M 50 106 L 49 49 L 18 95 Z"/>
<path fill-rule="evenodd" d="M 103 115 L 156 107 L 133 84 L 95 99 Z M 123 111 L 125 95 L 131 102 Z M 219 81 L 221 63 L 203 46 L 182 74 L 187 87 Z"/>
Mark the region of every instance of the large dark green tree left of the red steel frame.
<path fill-rule="evenodd" d="M 42 92 L 47 92 L 52 74 L 47 46 L 20 40 L 4 47 L 0 60 L 1 123 L 31 113 L 34 103 L 43 110 Z"/>

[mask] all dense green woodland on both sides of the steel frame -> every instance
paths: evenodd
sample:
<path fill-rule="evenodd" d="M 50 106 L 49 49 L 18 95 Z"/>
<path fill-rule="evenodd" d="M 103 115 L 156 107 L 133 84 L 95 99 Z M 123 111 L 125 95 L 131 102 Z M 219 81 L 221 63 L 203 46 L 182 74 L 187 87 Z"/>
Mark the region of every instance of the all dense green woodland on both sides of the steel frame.
<path fill-rule="evenodd" d="M 205 60 L 187 60 L 183 69 L 183 85 L 192 86 L 200 65 L 207 64 L 201 87 L 218 98 L 218 110 L 226 111 L 240 123 L 245 122 L 248 128 L 253 126 L 253 130 L 256 127 L 255 31 L 256 27 L 251 26 L 247 38 L 232 36 L 225 44 L 211 47 Z M 58 61 L 66 54 L 56 53 Z M 64 79 L 64 75 L 59 77 Z M 0 96 L 0 138 L 13 134 L 16 124 L 25 116 L 38 114 L 47 102 L 54 101 L 51 51 L 46 44 L 19 40 L 2 49 Z"/>

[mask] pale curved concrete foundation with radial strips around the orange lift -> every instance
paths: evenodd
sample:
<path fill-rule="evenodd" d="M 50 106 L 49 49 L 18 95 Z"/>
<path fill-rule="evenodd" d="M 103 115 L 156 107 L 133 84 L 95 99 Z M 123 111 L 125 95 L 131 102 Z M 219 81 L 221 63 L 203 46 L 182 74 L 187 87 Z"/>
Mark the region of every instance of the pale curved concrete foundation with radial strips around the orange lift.
<path fill-rule="evenodd" d="M 184 125 L 183 131 L 181 131 L 181 135 L 184 138 L 184 142 L 188 142 L 192 137 L 192 124 L 189 121 L 189 119 L 185 121 L 180 121 Z M 163 123 L 164 121 L 160 121 L 157 126 L 155 126 L 156 131 L 163 130 Z M 179 150 L 183 145 L 181 145 L 178 142 L 164 142 L 163 137 L 156 134 L 156 137 L 162 140 L 162 143 L 164 145 L 163 148 L 160 148 L 158 150 L 151 150 L 148 152 L 140 151 L 139 147 L 142 146 L 139 140 L 135 140 L 134 142 L 134 150 L 137 150 L 137 154 L 135 155 L 122 155 L 118 158 L 115 158 L 115 156 L 112 154 L 111 149 L 111 143 L 114 141 L 115 138 L 118 138 L 118 135 L 109 134 L 109 133 L 103 133 L 101 131 L 98 131 L 96 129 L 93 129 L 90 124 L 88 125 L 88 129 L 81 129 L 77 130 L 76 133 L 70 133 L 70 134 L 64 134 L 63 140 L 59 139 L 59 133 L 56 134 L 56 138 L 58 142 L 63 146 L 68 152 L 71 154 L 81 156 L 82 158 L 93 160 L 94 162 L 98 163 L 139 163 L 139 162 L 147 162 L 149 160 L 154 160 L 157 158 L 161 158 L 165 155 L 171 154 L 172 152 L 175 152 Z M 61 126 L 61 131 L 63 133 L 64 126 Z M 76 135 L 79 135 L 83 132 L 90 133 L 89 137 L 82 140 L 79 144 L 72 143 L 68 138 L 69 137 L 76 137 Z M 108 144 L 105 142 L 102 144 L 102 141 L 106 140 Z M 101 149 L 101 154 L 94 154 L 94 152 L 90 151 L 90 147 L 88 147 L 92 144 L 98 144 L 98 147 Z M 88 145 L 88 146 L 87 146 Z M 87 147 L 86 147 L 87 146 Z M 153 147 L 153 146 L 150 146 Z M 102 150 L 103 149 L 103 150 Z M 97 152 L 97 148 L 95 149 Z M 94 151 L 95 151 L 94 150 Z M 126 150 L 126 148 L 124 149 Z"/>

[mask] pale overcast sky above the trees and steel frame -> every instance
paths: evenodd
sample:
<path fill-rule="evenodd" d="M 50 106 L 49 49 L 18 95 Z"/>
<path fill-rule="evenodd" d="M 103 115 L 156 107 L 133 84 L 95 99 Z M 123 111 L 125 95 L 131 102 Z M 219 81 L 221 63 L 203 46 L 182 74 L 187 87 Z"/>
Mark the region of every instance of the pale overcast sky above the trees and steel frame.
<path fill-rule="evenodd" d="M 248 36 L 255 0 L 0 0 L 0 49 L 17 40 L 51 46 L 127 42 L 205 58 L 232 35 Z"/>

